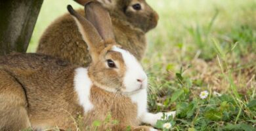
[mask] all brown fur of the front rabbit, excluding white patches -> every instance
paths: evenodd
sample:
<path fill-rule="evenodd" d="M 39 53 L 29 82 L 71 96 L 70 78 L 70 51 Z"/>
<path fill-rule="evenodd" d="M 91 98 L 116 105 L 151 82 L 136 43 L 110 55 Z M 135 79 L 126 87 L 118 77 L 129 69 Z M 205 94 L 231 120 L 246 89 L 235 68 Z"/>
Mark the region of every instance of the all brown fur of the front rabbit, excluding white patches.
<path fill-rule="evenodd" d="M 95 6 L 98 8 L 99 5 L 91 4 L 88 8 Z M 70 12 L 74 12 L 71 8 Z M 104 14 L 104 12 L 106 10 L 100 10 L 98 13 Z M 81 20 L 75 15 L 76 13 L 73 14 L 80 23 L 84 22 L 83 28 L 87 27 L 90 32 L 96 31 L 89 21 Z M 102 19 L 108 20 L 108 16 L 104 14 Z M 108 34 L 111 31 L 109 28 L 104 32 Z M 86 40 L 92 40 L 93 37 L 98 40 L 94 41 L 95 43 L 87 41 L 90 47 L 96 48 L 98 44 L 106 47 L 97 52 L 90 51 L 98 56 L 93 59 L 88 69 L 89 77 L 93 81 L 90 94 L 93 109 L 84 113 L 83 107 L 79 105 L 79 97 L 74 88 L 75 69 L 77 69 L 75 65 L 43 54 L 2 56 L 0 57 L 1 130 L 22 130 L 30 126 L 35 130 L 54 126 L 64 130 L 76 130 L 74 119 L 79 115 L 83 117 L 84 126 L 91 126 L 95 120 L 104 121 L 108 112 L 112 114 L 112 119 L 116 119 L 120 124 L 103 124 L 98 130 L 107 128 L 126 130 L 127 126 L 131 126 L 131 130 L 150 130 L 149 126 L 139 126 L 137 105 L 131 102 L 130 98 L 119 92 L 107 92 L 104 89 L 108 87 L 118 91 L 119 86 L 122 86 L 120 76 L 125 70 L 121 54 L 110 50 L 114 45 L 110 45 L 108 41 L 102 42 L 104 39 L 112 39 L 111 36 L 103 33 L 97 37 L 97 35 L 89 35 L 88 32 L 83 35 L 88 37 Z M 108 68 L 106 59 L 117 62 L 119 69 Z"/>

